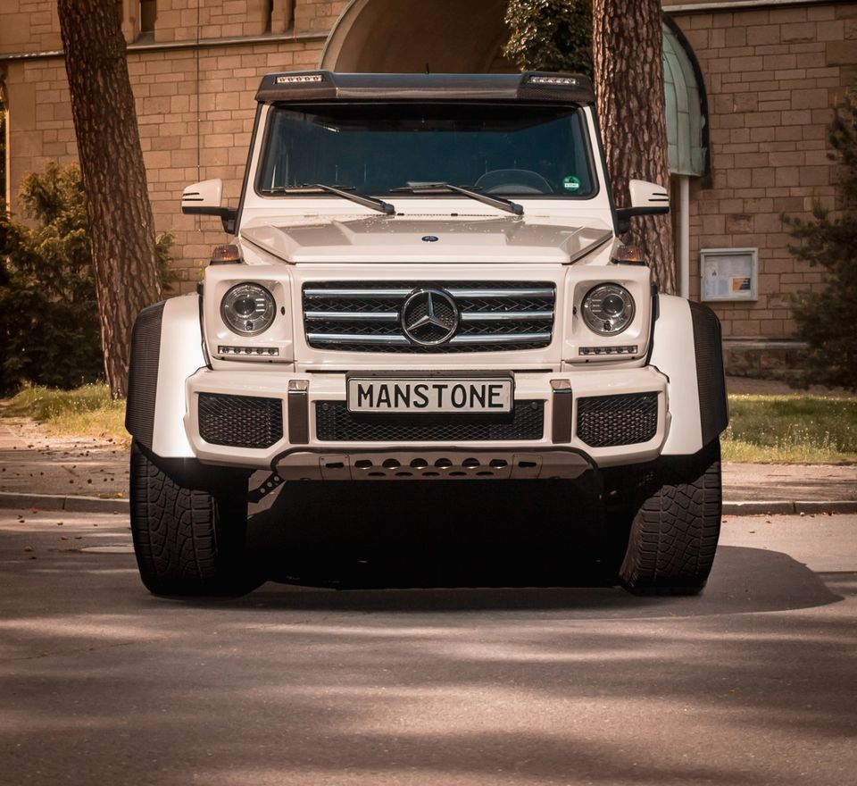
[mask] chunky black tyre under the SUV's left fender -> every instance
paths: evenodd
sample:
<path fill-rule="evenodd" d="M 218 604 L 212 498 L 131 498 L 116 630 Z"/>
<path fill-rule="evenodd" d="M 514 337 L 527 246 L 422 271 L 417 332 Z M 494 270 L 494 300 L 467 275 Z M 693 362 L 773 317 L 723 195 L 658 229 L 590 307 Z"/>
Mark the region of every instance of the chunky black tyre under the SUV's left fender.
<path fill-rule="evenodd" d="M 196 477 L 168 474 L 132 443 L 131 534 L 147 590 L 173 596 L 244 591 L 245 478 L 208 468 Z"/>

